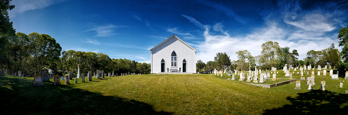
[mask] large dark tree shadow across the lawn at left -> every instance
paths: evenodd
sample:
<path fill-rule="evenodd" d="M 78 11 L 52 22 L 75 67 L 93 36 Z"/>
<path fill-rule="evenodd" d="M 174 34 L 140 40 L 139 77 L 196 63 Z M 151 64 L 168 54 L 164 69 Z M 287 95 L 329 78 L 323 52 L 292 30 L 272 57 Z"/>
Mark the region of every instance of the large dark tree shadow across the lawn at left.
<path fill-rule="evenodd" d="M 2 115 L 171 115 L 156 112 L 152 106 L 120 97 L 74 89 L 67 85 L 33 86 L 32 79 L 0 76 Z"/>

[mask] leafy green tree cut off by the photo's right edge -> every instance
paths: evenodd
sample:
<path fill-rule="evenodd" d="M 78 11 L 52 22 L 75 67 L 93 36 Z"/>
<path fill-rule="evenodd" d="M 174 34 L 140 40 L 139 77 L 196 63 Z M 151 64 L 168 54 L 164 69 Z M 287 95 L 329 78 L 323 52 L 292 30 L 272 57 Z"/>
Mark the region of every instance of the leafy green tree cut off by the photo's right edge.
<path fill-rule="evenodd" d="M 342 59 L 345 63 L 348 62 L 348 24 L 345 28 L 340 28 L 340 31 L 338 31 L 338 46 L 343 46 L 342 52 L 340 55 L 342 56 Z"/>

